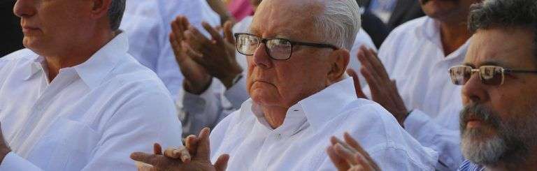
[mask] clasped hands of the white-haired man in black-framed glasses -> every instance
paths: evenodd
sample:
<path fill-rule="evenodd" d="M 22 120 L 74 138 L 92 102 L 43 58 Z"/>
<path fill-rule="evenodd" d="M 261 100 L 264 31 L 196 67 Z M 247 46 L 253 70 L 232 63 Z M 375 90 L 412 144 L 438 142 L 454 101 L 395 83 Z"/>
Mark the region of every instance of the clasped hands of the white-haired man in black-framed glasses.
<path fill-rule="evenodd" d="M 223 154 L 215 164 L 210 163 L 209 128 L 203 128 L 199 136 L 189 136 L 186 148 L 169 148 L 162 154 L 131 154 L 134 161 L 152 165 L 154 170 L 203 170 L 224 171 L 229 155 Z"/>

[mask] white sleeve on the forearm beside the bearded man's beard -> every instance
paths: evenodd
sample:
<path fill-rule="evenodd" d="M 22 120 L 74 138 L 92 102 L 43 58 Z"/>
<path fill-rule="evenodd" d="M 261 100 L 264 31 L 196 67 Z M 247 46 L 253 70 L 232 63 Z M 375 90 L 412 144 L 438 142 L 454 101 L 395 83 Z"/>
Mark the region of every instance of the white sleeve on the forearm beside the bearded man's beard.
<path fill-rule="evenodd" d="M 438 170 L 457 170 L 463 161 L 459 131 L 443 128 L 420 110 L 413 110 L 404 121 L 405 130 L 425 147 L 438 152 Z"/>

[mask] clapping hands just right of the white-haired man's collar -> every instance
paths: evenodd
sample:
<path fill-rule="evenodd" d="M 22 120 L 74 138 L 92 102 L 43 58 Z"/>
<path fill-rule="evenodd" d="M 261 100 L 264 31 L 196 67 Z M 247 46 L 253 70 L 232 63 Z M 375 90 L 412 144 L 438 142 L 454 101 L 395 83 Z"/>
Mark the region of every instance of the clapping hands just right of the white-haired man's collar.
<path fill-rule="evenodd" d="M 369 89 L 371 89 L 371 100 L 385 107 L 388 112 L 394 115 L 399 124 L 403 126 L 406 117 L 408 117 L 408 110 L 403 102 L 403 98 L 399 95 L 399 91 L 397 91 L 395 81 L 389 80 L 389 75 L 380 59 L 378 59 L 376 52 L 361 46 L 357 57 L 361 63 L 360 73 L 364 75 Z M 359 98 L 367 98 L 359 87 L 359 79 L 356 76 L 356 72 L 349 69 L 348 74 L 355 80 L 357 96 Z"/>

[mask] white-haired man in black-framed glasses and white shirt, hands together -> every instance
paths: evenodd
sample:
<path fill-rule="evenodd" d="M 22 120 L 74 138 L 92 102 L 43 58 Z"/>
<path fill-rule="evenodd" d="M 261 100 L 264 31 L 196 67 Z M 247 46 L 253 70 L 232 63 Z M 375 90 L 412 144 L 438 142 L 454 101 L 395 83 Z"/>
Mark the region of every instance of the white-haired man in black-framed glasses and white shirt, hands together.
<path fill-rule="evenodd" d="M 210 137 L 205 128 L 185 148 L 131 158 L 162 170 L 334 170 L 328 139 L 347 132 L 383 170 L 434 170 L 436 152 L 355 96 L 345 70 L 359 28 L 356 1 L 262 1 L 250 33 L 235 34 L 251 99 Z"/>

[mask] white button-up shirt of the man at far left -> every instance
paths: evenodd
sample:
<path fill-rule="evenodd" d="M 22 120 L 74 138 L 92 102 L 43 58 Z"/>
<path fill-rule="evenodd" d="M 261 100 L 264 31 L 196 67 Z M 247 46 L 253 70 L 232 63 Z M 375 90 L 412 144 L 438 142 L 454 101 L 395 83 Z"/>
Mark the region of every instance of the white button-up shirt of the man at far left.
<path fill-rule="evenodd" d="M 13 150 L 0 170 L 136 170 L 132 152 L 182 144 L 169 91 L 127 50 L 120 34 L 52 82 L 30 50 L 0 59 L 1 129 Z"/>

